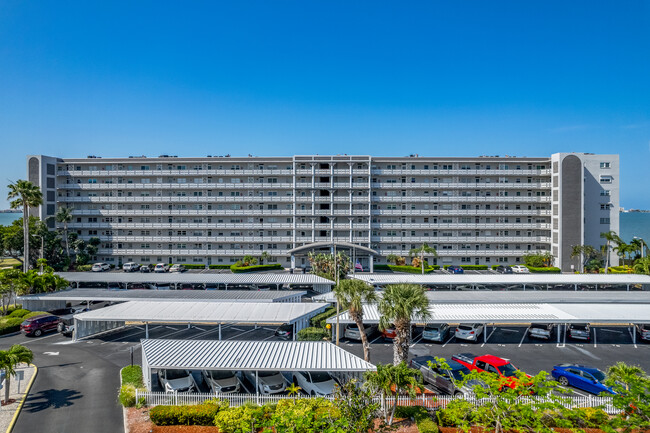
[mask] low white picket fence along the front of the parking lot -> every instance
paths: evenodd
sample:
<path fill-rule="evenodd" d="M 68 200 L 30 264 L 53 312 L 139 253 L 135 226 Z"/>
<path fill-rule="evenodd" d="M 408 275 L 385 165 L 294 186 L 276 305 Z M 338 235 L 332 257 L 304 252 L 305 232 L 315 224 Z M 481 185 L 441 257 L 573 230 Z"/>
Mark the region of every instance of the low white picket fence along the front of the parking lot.
<path fill-rule="evenodd" d="M 144 398 L 147 406 L 158 405 L 186 405 L 186 404 L 199 404 L 205 400 L 219 399 L 228 400 L 230 406 L 241 406 L 245 403 L 254 403 L 262 405 L 265 403 L 277 403 L 280 400 L 286 399 L 301 399 L 313 398 L 306 395 L 288 396 L 288 395 L 259 395 L 259 394 L 213 394 L 213 393 L 165 393 L 165 392 L 142 392 L 135 391 L 136 401 Z M 328 400 L 334 400 L 333 396 L 324 397 Z M 416 398 L 408 396 L 397 397 L 397 404 L 400 406 L 423 406 L 431 409 L 443 408 L 447 406 L 450 401 L 455 399 L 465 399 L 475 406 L 482 406 L 490 402 L 490 399 L 478 399 L 475 397 L 454 397 L 449 395 L 431 395 L 421 394 Z M 596 397 L 596 396 L 578 396 L 578 397 L 560 397 L 560 401 L 567 408 L 577 407 L 602 407 L 608 414 L 615 414 L 618 411 L 612 404 L 611 397 Z M 386 403 L 392 404 L 394 398 L 388 398 Z M 526 403 L 545 403 L 551 402 L 550 399 L 541 397 L 524 397 L 521 401 Z M 377 398 L 377 402 L 381 403 L 381 399 Z"/>

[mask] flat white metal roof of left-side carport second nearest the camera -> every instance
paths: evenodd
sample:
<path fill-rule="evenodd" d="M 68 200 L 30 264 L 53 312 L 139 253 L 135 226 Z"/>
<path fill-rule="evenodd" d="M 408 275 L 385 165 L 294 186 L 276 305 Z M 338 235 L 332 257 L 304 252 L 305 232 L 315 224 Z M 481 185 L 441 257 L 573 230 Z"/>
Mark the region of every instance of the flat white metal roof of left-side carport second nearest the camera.
<path fill-rule="evenodd" d="M 130 301 L 76 314 L 79 321 L 148 323 L 294 323 L 327 308 L 322 303 Z"/>

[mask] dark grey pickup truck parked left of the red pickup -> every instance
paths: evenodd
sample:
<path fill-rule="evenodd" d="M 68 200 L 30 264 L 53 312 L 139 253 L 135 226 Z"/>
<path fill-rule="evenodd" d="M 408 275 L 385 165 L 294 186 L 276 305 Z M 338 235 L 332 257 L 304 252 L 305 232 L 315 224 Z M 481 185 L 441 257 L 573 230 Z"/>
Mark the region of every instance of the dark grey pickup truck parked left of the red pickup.
<path fill-rule="evenodd" d="M 420 370 L 424 382 L 432 385 L 438 391 L 442 391 L 449 395 L 470 395 L 472 394 L 474 385 L 480 383 L 477 380 L 472 380 L 469 381 L 467 385 L 460 386 L 459 382 L 461 382 L 464 376 L 468 375 L 470 371 L 469 368 L 458 361 L 446 361 L 449 368 L 431 368 L 429 366 L 429 361 L 434 365 L 436 364 L 436 360 L 433 356 L 418 356 L 411 360 L 410 366 L 411 368 Z"/>

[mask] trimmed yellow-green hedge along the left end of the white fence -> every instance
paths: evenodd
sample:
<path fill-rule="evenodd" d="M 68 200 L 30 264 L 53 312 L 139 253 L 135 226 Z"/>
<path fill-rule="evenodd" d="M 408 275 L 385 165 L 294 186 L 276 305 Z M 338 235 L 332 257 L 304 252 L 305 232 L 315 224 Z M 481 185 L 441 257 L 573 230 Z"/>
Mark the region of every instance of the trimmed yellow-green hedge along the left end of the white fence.
<path fill-rule="evenodd" d="M 228 402 L 208 400 L 190 406 L 155 406 L 149 410 L 149 418 L 156 425 L 202 425 L 213 426 L 220 410 Z"/>

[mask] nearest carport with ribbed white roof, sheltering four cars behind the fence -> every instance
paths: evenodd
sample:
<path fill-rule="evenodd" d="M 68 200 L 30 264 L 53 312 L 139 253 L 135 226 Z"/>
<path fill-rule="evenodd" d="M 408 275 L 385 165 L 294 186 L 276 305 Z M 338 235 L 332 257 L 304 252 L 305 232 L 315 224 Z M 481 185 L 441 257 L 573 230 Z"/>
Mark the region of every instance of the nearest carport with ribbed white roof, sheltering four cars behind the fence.
<path fill-rule="evenodd" d="M 308 371 L 348 377 L 375 366 L 326 341 L 142 340 L 142 372 L 152 370 Z M 255 384 L 257 385 L 257 384 Z M 257 392 L 257 386 L 256 386 Z"/>

